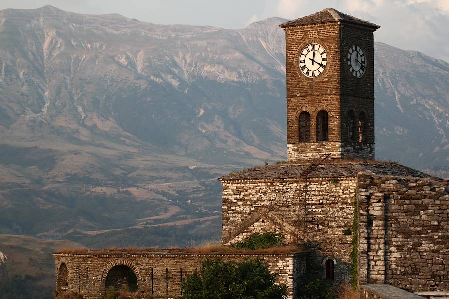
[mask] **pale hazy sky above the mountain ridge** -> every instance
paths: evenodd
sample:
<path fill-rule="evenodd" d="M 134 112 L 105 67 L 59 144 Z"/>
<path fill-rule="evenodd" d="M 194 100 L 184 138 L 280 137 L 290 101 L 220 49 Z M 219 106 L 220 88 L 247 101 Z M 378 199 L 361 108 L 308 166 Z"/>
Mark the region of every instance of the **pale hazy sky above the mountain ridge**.
<path fill-rule="evenodd" d="M 274 16 L 295 19 L 332 7 L 380 25 L 376 41 L 449 61 L 449 0 L 0 0 L 0 9 L 46 4 L 157 24 L 223 28 L 242 28 Z"/>

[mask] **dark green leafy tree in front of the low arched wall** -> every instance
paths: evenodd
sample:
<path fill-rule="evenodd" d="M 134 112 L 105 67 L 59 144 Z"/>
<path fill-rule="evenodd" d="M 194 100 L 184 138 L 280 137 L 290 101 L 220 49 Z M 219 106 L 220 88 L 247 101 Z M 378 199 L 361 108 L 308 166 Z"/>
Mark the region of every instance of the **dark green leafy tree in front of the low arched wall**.
<path fill-rule="evenodd" d="M 262 259 L 247 259 L 239 263 L 206 259 L 198 274 L 189 275 L 182 282 L 183 298 L 285 298 L 287 287 L 275 284 L 277 276 L 270 273 Z"/>

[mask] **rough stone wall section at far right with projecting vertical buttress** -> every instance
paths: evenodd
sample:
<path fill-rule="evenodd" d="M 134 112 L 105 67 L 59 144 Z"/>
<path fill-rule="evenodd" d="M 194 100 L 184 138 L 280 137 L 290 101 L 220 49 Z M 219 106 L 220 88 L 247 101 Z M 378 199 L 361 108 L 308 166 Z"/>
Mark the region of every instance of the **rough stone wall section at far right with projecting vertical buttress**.
<path fill-rule="evenodd" d="M 448 182 L 358 178 L 360 283 L 449 290 Z"/>

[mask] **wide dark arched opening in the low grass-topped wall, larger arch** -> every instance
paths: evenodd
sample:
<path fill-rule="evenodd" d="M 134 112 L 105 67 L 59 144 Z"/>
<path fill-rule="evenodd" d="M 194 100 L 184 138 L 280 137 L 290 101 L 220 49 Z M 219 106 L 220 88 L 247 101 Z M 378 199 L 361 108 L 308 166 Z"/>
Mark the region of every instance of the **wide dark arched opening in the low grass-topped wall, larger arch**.
<path fill-rule="evenodd" d="M 105 287 L 117 290 L 127 288 L 129 291 L 135 292 L 137 291 L 136 273 L 126 265 L 114 266 L 106 276 Z"/>

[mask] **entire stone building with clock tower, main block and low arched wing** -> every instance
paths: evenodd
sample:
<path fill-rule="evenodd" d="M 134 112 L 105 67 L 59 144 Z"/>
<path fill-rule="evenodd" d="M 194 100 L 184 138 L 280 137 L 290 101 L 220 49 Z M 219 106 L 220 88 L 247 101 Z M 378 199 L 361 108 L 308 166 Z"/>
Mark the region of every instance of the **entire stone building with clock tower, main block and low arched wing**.
<path fill-rule="evenodd" d="M 298 252 L 170 250 L 56 253 L 56 287 L 86 298 L 134 279 L 137 296 L 181 296 L 204 258 L 263 258 L 288 286 L 329 281 L 449 291 L 449 184 L 374 160 L 374 47 L 379 26 L 334 9 L 280 25 L 286 35 L 286 163 L 223 184 L 222 243 L 277 232 Z M 133 273 L 129 277 L 129 273 Z"/>

